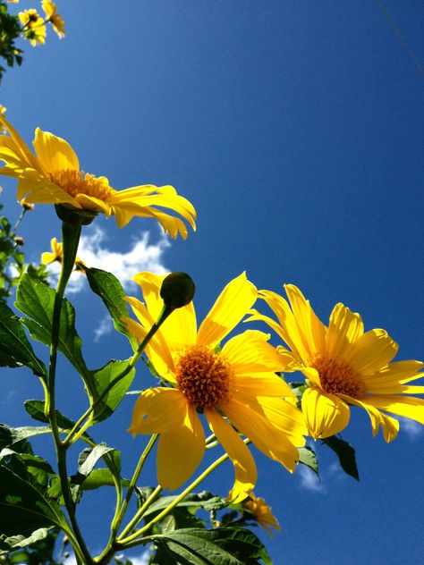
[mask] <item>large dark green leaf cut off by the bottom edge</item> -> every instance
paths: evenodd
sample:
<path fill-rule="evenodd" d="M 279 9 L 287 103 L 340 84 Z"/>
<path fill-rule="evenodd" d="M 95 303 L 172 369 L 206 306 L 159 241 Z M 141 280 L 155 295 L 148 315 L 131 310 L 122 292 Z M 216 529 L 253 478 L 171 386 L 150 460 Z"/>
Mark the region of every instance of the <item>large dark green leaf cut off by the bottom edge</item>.
<path fill-rule="evenodd" d="M 158 544 L 156 565 L 272 565 L 257 535 L 244 528 L 184 528 L 150 538 Z"/>

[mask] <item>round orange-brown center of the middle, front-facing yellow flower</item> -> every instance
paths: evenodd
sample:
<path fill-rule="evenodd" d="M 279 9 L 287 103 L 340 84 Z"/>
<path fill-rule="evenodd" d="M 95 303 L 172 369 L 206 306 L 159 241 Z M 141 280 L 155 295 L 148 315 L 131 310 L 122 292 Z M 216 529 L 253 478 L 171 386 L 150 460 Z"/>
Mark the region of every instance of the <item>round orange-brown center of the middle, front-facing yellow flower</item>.
<path fill-rule="evenodd" d="M 195 345 L 178 359 L 176 379 L 180 391 L 201 412 L 230 398 L 233 370 L 219 353 Z"/>

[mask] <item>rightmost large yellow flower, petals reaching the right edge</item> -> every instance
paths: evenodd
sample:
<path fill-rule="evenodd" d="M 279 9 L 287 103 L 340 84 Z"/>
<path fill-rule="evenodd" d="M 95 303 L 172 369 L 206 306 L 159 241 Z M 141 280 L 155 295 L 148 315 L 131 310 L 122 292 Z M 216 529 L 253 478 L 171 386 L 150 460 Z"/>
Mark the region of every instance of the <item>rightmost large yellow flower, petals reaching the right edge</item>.
<path fill-rule="evenodd" d="M 259 296 L 274 311 L 278 323 L 254 311 L 249 320 L 263 320 L 288 345 L 280 346 L 292 356 L 286 371 L 301 371 L 308 388 L 301 409 L 314 438 L 341 432 L 349 423 L 349 406 L 365 409 L 373 434 L 382 427 L 386 442 L 399 431 L 399 421 L 389 412 L 424 424 L 424 400 L 406 394 L 422 394 L 424 386 L 409 383 L 424 374 L 420 361 L 396 361 L 398 345 L 385 330 L 364 333 L 362 318 L 339 303 L 324 325 L 301 291 L 284 285 L 289 303 L 276 292 L 260 291 Z"/>

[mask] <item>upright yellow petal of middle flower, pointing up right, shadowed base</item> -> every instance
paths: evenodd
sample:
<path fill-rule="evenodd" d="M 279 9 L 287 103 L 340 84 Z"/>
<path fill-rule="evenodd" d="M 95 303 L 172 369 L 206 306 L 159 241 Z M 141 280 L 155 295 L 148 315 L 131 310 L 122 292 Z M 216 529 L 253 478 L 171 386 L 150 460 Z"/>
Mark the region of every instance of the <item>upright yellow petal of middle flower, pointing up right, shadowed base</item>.
<path fill-rule="evenodd" d="M 199 327 L 198 344 L 215 347 L 253 306 L 258 291 L 242 273 L 229 282 Z"/>

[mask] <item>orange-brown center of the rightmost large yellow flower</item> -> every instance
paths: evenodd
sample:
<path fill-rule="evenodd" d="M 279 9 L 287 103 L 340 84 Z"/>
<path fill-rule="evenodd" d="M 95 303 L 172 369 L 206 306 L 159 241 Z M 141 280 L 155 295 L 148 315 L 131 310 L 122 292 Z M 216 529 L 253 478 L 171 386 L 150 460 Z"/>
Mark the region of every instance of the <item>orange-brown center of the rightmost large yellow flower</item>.
<path fill-rule="evenodd" d="M 360 374 L 340 358 L 318 355 L 312 367 L 317 369 L 321 387 L 326 392 L 358 398 L 365 390 Z"/>

